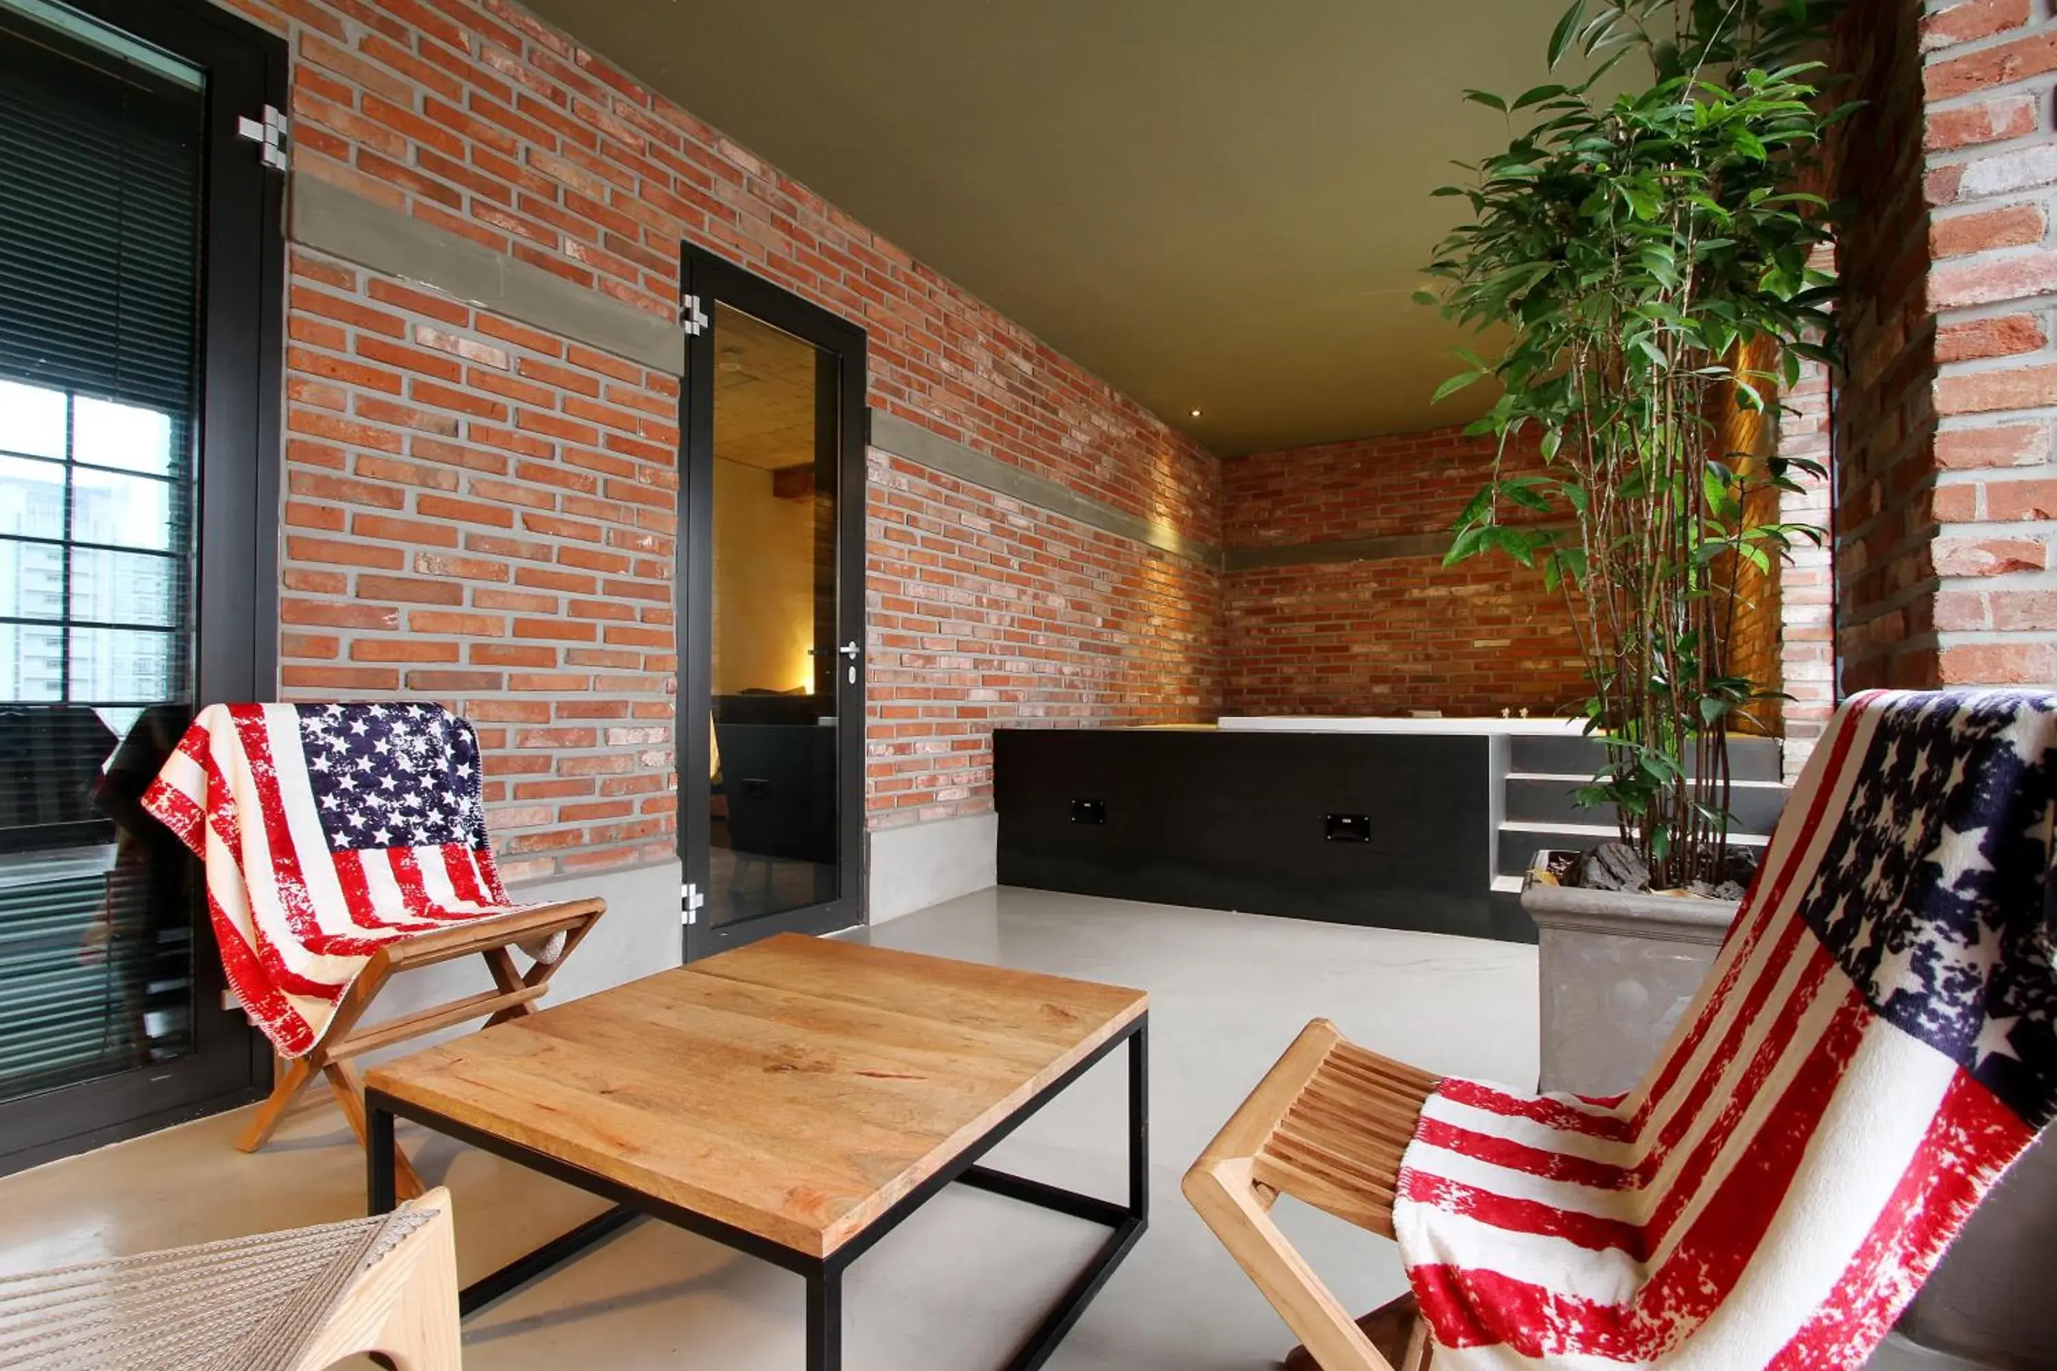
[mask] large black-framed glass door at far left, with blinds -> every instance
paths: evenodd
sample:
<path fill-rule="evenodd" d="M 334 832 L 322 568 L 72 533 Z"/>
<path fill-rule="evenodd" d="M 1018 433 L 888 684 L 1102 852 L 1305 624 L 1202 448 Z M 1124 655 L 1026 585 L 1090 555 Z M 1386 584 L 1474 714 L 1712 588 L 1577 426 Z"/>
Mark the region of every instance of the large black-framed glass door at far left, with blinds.
<path fill-rule="evenodd" d="M 208 6 L 0 0 L 0 1172 L 269 1081 L 140 800 L 272 689 L 284 90 Z"/>

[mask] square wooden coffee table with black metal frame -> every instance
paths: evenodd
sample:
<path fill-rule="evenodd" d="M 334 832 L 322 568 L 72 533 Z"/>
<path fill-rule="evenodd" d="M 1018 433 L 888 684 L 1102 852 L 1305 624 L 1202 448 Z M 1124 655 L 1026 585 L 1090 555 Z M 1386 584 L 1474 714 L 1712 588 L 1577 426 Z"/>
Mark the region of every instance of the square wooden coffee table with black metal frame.
<path fill-rule="evenodd" d="M 963 1182 L 1113 1229 L 1008 1361 L 1026 1371 L 1148 1219 L 1146 1009 L 1111 985 L 769 937 L 372 1069 L 370 1211 L 395 1205 L 393 1120 L 416 1120 L 615 1202 L 465 1289 L 467 1313 L 650 1215 L 806 1276 L 806 1365 L 831 1371 L 843 1268 Z M 1127 1202 L 977 1165 L 1123 1042 Z"/>

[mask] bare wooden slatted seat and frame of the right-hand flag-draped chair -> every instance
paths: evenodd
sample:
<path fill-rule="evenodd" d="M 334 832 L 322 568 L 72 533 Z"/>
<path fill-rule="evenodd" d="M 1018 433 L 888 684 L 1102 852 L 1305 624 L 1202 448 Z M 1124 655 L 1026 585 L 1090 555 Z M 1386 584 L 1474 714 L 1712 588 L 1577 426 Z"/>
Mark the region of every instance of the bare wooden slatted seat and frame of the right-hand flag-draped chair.
<path fill-rule="evenodd" d="M 1393 1237 L 1401 1153 L 1434 1087 L 1434 1075 L 1314 1020 L 1185 1174 L 1185 1198 L 1300 1336 L 1288 1367 L 1430 1371 L 1413 1295 L 1351 1320 L 1271 1221 L 1271 1202 L 1290 1194 Z"/>

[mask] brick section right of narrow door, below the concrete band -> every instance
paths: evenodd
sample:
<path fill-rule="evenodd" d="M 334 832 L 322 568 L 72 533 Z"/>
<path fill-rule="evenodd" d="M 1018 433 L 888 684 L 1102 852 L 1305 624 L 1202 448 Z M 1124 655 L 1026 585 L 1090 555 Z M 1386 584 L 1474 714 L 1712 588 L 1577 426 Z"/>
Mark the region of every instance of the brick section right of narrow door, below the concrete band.
<path fill-rule="evenodd" d="M 991 728 L 1214 721 L 1220 576 L 872 452 L 874 826 L 991 806 Z"/>

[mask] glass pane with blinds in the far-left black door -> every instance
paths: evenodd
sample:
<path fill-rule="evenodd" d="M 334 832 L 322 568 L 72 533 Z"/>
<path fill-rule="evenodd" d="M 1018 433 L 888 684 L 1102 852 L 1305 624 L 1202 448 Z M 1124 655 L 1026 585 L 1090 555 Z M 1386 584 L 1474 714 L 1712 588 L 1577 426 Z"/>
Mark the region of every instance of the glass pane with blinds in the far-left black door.
<path fill-rule="evenodd" d="M 206 76 L 0 25 L 0 1102 L 193 1050 L 191 861 L 140 808 L 193 711 Z M 91 105 L 78 127 L 68 113 Z"/>

